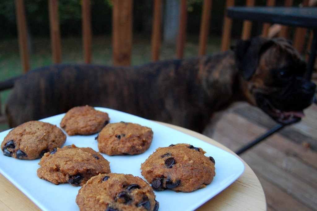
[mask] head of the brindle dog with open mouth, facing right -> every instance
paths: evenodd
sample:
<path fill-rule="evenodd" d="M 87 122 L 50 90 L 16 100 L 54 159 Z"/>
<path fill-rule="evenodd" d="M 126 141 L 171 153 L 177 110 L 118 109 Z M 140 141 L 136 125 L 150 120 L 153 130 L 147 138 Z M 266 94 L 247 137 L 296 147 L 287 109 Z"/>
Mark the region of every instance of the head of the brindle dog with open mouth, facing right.
<path fill-rule="evenodd" d="M 316 85 L 304 78 L 306 63 L 282 38 L 239 40 L 233 47 L 247 101 L 275 121 L 299 121 Z"/>

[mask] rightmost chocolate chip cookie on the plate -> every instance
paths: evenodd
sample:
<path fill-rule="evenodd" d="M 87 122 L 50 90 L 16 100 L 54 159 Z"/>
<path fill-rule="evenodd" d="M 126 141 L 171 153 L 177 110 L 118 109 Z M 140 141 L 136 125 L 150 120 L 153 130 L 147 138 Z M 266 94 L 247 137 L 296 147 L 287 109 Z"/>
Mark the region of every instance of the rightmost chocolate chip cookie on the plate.
<path fill-rule="evenodd" d="M 141 175 L 154 190 L 191 192 L 206 187 L 215 177 L 215 160 L 189 144 L 159 147 L 141 164 Z"/>

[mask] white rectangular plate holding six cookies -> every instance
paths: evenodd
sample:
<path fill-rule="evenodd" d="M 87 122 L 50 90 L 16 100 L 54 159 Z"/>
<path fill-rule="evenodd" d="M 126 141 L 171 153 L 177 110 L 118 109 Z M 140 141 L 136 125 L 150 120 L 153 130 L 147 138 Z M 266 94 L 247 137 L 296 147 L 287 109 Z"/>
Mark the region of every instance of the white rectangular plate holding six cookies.
<path fill-rule="evenodd" d="M 110 169 L 113 173 L 132 174 L 144 179 L 140 170 L 141 163 L 158 147 L 166 147 L 177 143 L 201 147 L 206 151 L 206 156 L 212 156 L 215 159 L 216 176 L 206 188 L 198 189 L 191 193 L 176 193 L 171 190 L 155 191 L 156 200 L 159 202 L 159 210 L 195 210 L 227 188 L 244 171 L 244 164 L 239 158 L 202 140 L 138 116 L 113 109 L 100 107 L 96 109 L 107 112 L 110 117 L 110 123 L 120 121 L 138 123 L 142 126 L 151 127 L 154 133 L 151 147 L 143 154 L 131 156 L 108 156 L 102 154 L 110 162 Z M 63 116 L 64 114 L 56 115 L 41 121 L 49 122 L 59 127 Z M 0 142 L 3 141 L 8 132 L 9 130 L 0 133 Z M 78 147 L 91 147 L 98 152 L 96 136 L 97 134 L 67 136 L 64 146 L 74 144 Z M 74 187 L 70 184 L 55 185 L 38 178 L 36 175 L 36 170 L 39 168 L 38 162 L 39 159 L 18 160 L 0 153 L 0 172 L 42 210 L 79 210 L 75 198 L 80 187 Z"/>

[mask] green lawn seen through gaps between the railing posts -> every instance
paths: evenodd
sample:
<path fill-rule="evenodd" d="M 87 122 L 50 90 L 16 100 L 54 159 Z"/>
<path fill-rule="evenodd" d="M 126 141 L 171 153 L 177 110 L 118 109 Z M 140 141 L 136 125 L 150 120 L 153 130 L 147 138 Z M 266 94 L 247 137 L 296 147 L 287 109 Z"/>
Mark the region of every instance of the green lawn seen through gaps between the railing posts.
<path fill-rule="evenodd" d="M 207 54 L 219 52 L 221 38 L 210 37 L 207 46 Z M 112 37 L 94 37 L 92 42 L 92 63 L 100 65 L 112 65 Z M 32 51 L 30 52 L 30 69 L 53 64 L 50 39 L 35 38 L 32 40 Z M 82 64 L 83 50 L 81 37 L 68 37 L 61 40 L 62 63 Z M 19 55 L 17 39 L 0 40 L 0 81 L 23 74 Z M 133 35 L 132 65 L 141 65 L 151 62 L 151 38 L 144 34 Z M 198 37 L 187 36 L 184 58 L 198 55 Z M 176 47 L 162 44 L 160 49 L 160 60 L 175 59 Z M 1 113 L 4 113 L 6 99 L 10 90 L 0 93 Z M 0 131 L 8 126 L 0 125 Z"/>

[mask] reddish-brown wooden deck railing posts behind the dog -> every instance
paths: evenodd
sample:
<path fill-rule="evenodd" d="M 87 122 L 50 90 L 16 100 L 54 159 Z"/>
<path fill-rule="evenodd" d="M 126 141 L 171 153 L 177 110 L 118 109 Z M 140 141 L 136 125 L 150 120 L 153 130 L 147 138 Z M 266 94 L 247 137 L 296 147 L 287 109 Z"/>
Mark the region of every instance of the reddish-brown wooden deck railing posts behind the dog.
<path fill-rule="evenodd" d="M 58 17 L 58 0 L 49 0 L 49 24 L 52 56 L 54 63 L 61 63 L 61 37 Z M 92 58 L 92 30 L 91 30 L 91 9 L 90 0 L 82 0 L 82 39 L 84 62 L 91 63 Z M 162 19 L 162 3 L 163 0 L 154 0 L 153 2 L 153 27 L 152 27 L 152 60 L 159 60 L 159 51 L 161 44 L 161 19 Z M 19 49 L 23 64 L 23 71 L 27 72 L 30 68 L 30 56 L 27 45 L 27 29 L 26 16 L 24 9 L 24 0 L 15 0 L 16 4 L 16 20 L 18 28 Z M 304 0 L 303 6 L 308 6 L 309 1 Z M 226 9 L 229 6 L 234 6 L 234 0 L 226 0 Z M 255 0 L 246 0 L 246 6 L 254 6 Z M 275 0 L 268 0 L 267 6 L 274 6 Z M 285 0 L 285 6 L 292 6 L 292 0 Z M 199 55 L 206 53 L 206 45 L 208 42 L 210 17 L 212 12 L 212 0 L 204 0 L 202 5 L 202 18 L 199 34 Z M 178 30 L 178 38 L 176 43 L 177 58 L 182 58 L 184 55 L 184 44 L 186 40 L 186 25 L 187 25 L 187 1 L 180 0 L 180 22 Z M 113 64 L 114 65 L 130 65 L 131 64 L 131 49 L 132 49 L 132 27 L 133 27 L 133 0 L 113 0 Z M 270 24 L 263 24 L 262 36 L 267 37 Z M 223 34 L 221 42 L 221 51 L 228 50 L 231 37 L 232 20 L 226 17 L 223 21 Z M 242 28 L 242 39 L 248 39 L 251 34 L 252 22 L 244 21 Z M 294 36 L 294 46 L 303 52 L 304 39 L 303 36 L 307 33 L 307 29 L 296 29 Z M 283 26 L 279 32 L 279 36 L 288 38 L 289 27 Z M 311 36 L 312 37 L 312 36 Z"/>

